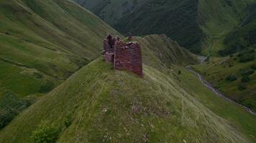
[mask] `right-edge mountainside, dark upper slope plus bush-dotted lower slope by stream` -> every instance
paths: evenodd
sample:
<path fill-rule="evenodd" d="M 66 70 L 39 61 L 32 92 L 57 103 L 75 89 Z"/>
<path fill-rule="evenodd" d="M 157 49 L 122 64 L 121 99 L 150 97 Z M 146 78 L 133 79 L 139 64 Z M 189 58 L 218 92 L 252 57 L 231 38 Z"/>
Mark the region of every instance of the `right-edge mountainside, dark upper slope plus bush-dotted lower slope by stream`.
<path fill-rule="evenodd" d="M 223 58 L 194 68 L 227 97 L 256 111 L 256 4 L 247 7 L 246 19 L 224 38 Z"/>

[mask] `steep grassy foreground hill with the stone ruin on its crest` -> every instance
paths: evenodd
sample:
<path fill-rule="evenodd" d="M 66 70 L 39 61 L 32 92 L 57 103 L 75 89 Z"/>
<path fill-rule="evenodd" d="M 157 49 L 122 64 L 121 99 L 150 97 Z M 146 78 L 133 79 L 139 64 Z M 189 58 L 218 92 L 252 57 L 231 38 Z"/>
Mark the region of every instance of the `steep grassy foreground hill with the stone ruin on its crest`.
<path fill-rule="evenodd" d="M 157 53 L 159 45 L 146 46 L 165 38 L 136 39 L 143 43 L 144 78 L 114 71 L 103 58 L 96 59 L 1 130 L 0 142 L 32 142 L 42 122 L 59 129 L 57 142 L 250 142 L 240 128 L 199 102 L 193 90 L 183 89 L 190 86 L 188 72 L 159 58 L 165 48 Z M 179 77 L 178 69 L 185 75 Z"/>

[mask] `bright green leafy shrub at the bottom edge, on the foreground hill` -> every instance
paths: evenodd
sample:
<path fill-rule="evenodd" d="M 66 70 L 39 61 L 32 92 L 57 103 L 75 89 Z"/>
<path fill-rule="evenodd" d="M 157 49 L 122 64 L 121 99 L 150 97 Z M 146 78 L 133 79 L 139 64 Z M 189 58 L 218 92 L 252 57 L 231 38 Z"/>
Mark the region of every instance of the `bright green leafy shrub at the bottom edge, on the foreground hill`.
<path fill-rule="evenodd" d="M 32 139 L 35 143 L 55 143 L 58 139 L 60 129 L 50 127 L 47 122 L 42 122 L 34 132 Z"/>

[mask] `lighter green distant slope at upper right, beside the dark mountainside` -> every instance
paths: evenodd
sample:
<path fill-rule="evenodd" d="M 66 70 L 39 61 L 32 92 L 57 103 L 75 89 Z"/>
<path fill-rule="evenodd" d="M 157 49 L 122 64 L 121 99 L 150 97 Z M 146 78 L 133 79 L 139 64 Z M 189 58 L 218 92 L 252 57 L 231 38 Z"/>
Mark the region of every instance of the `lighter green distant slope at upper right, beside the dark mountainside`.
<path fill-rule="evenodd" d="M 250 4 L 250 0 L 199 1 L 199 22 L 205 34 L 203 54 L 210 52 L 211 56 L 219 56 L 219 50 L 224 49 L 224 39 L 244 21 Z"/>

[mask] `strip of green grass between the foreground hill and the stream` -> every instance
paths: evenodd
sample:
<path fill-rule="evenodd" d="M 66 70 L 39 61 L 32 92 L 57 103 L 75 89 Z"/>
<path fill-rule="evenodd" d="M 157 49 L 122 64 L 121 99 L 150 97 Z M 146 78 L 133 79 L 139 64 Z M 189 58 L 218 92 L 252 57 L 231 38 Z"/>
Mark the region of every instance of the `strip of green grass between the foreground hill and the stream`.
<path fill-rule="evenodd" d="M 204 104 L 211 112 L 226 119 L 227 122 L 233 124 L 234 127 L 237 127 L 240 131 L 247 134 L 247 137 L 250 137 L 253 142 L 256 141 L 255 137 L 255 115 L 247 112 L 246 109 L 237 106 L 232 102 L 229 102 L 222 97 L 218 97 L 214 92 L 211 92 L 206 87 L 201 87 L 201 82 L 198 81 L 198 77 L 182 70 L 182 76 L 180 80 L 184 89 L 187 89 L 189 93 L 193 95 L 199 102 Z M 189 81 L 188 81 L 189 80 Z M 193 87 L 193 88 L 191 88 Z"/>

